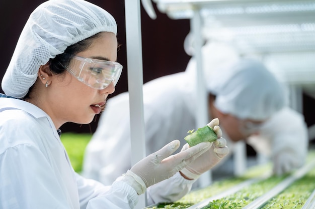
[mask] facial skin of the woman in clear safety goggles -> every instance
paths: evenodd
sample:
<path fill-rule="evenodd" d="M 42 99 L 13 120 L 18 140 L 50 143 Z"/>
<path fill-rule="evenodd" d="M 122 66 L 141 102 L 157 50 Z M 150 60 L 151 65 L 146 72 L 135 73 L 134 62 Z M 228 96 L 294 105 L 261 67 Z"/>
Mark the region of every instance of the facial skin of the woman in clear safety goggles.
<path fill-rule="evenodd" d="M 117 38 L 113 33 L 103 32 L 87 50 L 77 56 L 116 61 Z M 105 89 L 94 89 L 66 71 L 64 75 L 52 76 L 45 105 L 41 108 L 52 118 L 56 128 L 66 122 L 87 124 L 104 109 L 106 98 L 114 91 L 113 83 Z"/>

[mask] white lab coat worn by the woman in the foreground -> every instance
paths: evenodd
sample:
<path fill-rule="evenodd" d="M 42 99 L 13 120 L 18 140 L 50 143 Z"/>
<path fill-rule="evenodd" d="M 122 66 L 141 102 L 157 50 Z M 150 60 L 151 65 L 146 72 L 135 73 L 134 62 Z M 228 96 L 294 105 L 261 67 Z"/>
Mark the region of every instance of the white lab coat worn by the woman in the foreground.
<path fill-rule="evenodd" d="M 74 172 L 50 117 L 28 102 L 0 98 L 0 208 L 133 208 L 136 191 L 123 181 L 104 186 Z M 126 170 L 124 171 L 126 172 Z M 176 173 L 151 187 L 148 203 L 175 201 L 194 181 Z"/>

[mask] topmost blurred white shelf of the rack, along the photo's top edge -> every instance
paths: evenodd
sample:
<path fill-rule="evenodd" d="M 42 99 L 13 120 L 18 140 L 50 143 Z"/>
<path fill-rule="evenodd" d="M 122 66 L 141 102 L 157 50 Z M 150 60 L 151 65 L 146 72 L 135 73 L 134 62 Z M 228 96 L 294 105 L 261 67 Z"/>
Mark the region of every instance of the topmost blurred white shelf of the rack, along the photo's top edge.
<path fill-rule="evenodd" d="M 193 12 L 199 10 L 203 18 L 214 17 L 220 22 L 232 26 L 249 20 L 257 21 L 311 20 L 314 17 L 315 3 L 307 0 L 221 0 L 221 1 L 185 1 L 155 0 L 157 8 L 172 19 L 190 19 Z M 232 21 L 232 23 L 230 23 Z"/>

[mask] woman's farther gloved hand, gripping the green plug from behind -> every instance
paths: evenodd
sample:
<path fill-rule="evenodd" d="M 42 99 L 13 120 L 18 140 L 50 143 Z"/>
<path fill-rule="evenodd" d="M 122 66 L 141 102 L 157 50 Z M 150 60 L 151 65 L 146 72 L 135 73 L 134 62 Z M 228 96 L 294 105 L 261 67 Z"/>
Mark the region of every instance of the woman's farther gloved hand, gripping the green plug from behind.
<path fill-rule="evenodd" d="M 213 128 L 218 139 L 213 142 L 213 146 L 205 153 L 196 158 L 193 162 L 188 164 L 181 170 L 182 175 L 189 179 L 197 179 L 202 173 L 211 169 L 216 165 L 225 155 L 228 154 L 228 147 L 226 146 L 226 140 L 222 138 L 222 131 L 220 129 L 219 120 L 213 119 L 208 125 Z M 182 151 L 189 148 L 188 144 L 185 144 Z"/>

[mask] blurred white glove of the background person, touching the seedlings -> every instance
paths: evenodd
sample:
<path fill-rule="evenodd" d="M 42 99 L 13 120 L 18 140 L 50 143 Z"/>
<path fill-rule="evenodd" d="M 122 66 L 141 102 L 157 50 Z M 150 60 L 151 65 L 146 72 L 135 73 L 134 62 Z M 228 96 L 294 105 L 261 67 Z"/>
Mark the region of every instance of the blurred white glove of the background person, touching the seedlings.
<path fill-rule="evenodd" d="M 281 150 L 273 156 L 273 173 L 282 175 L 302 166 L 303 162 L 296 157 L 293 150 Z"/>

